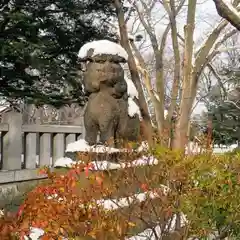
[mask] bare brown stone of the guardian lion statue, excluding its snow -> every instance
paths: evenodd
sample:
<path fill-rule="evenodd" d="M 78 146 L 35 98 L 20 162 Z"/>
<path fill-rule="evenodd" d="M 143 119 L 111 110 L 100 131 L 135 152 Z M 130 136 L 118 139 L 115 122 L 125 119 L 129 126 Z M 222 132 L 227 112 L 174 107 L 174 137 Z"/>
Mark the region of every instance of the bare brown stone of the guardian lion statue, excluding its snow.
<path fill-rule="evenodd" d="M 118 56 L 92 57 L 84 73 L 84 88 L 89 96 L 84 113 L 85 140 L 116 146 L 116 140 L 137 141 L 140 121 L 128 116 L 127 83 Z M 115 145 L 113 145 L 115 143 Z"/>

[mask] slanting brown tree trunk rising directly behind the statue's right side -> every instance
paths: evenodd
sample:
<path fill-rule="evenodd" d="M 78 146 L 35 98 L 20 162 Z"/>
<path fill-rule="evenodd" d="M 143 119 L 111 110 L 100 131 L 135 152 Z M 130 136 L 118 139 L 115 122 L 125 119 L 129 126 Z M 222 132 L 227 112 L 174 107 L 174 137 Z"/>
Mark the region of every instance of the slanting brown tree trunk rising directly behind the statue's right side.
<path fill-rule="evenodd" d="M 134 56 L 129 44 L 129 39 L 128 39 L 128 33 L 127 33 L 127 28 L 126 28 L 126 23 L 124 20 L 124 12 L 122 8 L 122 4 L 119 0 L 114 1 L 115 7 L 116 7 L 116 12 L 117 12 L 117 17 L 118 17 L 118 24 L 119 24 L 119 29 L 120 29 L 120 42 L 123 48 L 126 50 L 128 53 L 128 66 L 129 70 L 131 73 L 131 78 L 133 83 L 135 84 L 138 94 L 139 94 L 139 107 L 141 110 L 142 118 L 143 118 L 143 123 L 144 127 L 142 128 L 143 132 L 142 134 L 144 135 L 145 139 L 148 141 L 148 143 L 151 145 L 153 143 L 153 128 L 152 128 L 152 123 L 151 123 L 151 118 L 150 114 L 148 112 L 148 107 L 147 103 L 145 100 L 145 96 L 143 93 L 140 77 L 138 75 L 136 63 L 134 60 Z"/>

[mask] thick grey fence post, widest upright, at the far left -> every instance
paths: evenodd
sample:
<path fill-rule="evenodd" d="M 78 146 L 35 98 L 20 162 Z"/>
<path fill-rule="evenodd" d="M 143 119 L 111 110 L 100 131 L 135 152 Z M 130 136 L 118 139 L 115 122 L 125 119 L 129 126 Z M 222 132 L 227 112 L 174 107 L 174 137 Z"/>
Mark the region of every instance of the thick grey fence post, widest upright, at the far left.
<path fill-rule="evenodd" d="M 2 138 L 2 170 L 21 169 L 22 157 L 22 114 L 8 112 L 4 114 L 4 120 L 8 123 L 8 132 L 3 133 Z"/>

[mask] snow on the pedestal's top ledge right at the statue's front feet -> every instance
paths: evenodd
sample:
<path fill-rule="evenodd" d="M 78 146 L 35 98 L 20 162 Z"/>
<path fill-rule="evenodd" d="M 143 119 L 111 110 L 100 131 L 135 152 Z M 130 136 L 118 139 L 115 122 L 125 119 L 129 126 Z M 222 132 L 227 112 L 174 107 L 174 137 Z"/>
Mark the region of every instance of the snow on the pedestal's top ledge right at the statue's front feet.
<path fill-rule="evenodd" d="M 120 152 L 117 148 L 106 147 L 104 145 L 89 146 L 84 140 L 80 139 L 67 145 L 66 152 L 94 152 L 94 153 L 115 153 Z"/>

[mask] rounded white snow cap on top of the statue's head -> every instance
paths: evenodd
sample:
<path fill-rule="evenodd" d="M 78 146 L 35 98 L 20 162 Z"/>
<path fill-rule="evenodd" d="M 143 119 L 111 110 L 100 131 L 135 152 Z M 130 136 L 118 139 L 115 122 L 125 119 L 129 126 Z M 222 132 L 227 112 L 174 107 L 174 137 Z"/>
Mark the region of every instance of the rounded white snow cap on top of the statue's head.
<path fill-rule="evenodd" d="M 109 40 L 98 40 L 84 44 L 78 52 L 78 57 L 87 57 L 88 51 L 91 49 L 93 49 L 92 56 L 110 54 L 118 55 L 119 57 L 128 60 L 128 54 L 125 49 L 121 47 L 121 45 L 111 42 Z"/>

